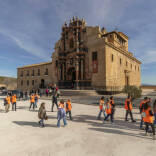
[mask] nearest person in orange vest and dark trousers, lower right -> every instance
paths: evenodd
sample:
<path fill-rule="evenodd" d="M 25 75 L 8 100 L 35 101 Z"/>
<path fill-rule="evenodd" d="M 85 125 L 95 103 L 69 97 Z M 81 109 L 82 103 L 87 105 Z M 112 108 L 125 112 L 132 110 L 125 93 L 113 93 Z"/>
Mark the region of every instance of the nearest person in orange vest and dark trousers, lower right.
<path fill-rule="evenodd" d="M 147 136 L 149 126 L 151 126 L 152 132 L 153 132 L 153 140 L 155 140 L 156 138 L 155 138 L 155 129 L 154 129 L 154 124 L 153 124 L 153 112 L 151 110 L 149 102 L 146 102 L 143 106 L 142 117 L 143 117 L 143 121 L 146 125 L 145 135 Z"/>

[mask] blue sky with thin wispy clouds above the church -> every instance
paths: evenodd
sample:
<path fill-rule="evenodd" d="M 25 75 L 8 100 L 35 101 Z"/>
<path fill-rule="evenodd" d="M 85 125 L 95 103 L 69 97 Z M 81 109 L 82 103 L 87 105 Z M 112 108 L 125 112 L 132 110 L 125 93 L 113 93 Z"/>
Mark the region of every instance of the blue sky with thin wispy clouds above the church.
<path fill-rule="evenodd" d="M 156 85 L 155 0 L 0 0 L 0 75 L 51 60 L 62 24 L 73 16 L 87 25 L 127 34 L 142 61 L 142 83 Z"/>

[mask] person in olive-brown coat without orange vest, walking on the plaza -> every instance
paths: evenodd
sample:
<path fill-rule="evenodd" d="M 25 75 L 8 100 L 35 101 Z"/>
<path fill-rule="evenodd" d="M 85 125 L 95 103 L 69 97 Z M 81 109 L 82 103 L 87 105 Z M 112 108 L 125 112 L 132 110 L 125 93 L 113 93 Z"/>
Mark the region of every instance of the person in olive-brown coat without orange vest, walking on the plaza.
<path fill-rule="evenodd" d="M 38 123 L 41 127 L 45 127 L 44 120 L 48 120 L 48 116 L 46 114 L 45 103 L 41 103 L 41 106 L 38 111 L 38 117 L 41 119 Z"/>

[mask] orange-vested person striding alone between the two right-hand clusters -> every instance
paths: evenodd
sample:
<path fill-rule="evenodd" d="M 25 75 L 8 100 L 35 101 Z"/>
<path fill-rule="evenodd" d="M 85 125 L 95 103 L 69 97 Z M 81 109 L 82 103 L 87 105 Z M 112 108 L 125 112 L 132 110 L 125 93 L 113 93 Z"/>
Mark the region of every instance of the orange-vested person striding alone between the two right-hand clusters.
<path fill-rule="evenodd" d="M 133 119 L 133 114 L 132 114 L 133 106 L 132 106 L 132 98 L 131 98 L 131 96 L 128 96 L 127 99 L 125 100 L 125 109 L 126 109 L 125 121 L 128 121 L 127 117 L 128 117 L 128 114 L 130 114 L 131 121 L 132 122 L 136 122 Z"/>

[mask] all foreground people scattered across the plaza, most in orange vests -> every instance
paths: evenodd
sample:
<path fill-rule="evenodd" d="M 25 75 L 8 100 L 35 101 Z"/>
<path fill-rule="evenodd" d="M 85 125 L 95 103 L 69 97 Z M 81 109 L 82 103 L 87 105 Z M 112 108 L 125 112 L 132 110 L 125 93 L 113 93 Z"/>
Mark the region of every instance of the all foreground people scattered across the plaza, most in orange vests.
<path fill-rule="evenodd" d="M 60 121 L 63 120 L 64 126 L 67 125 L 67 120 L 66 116 L 69 114 L 70 120 L 72 120 L 72 104 L 71 100 L 68 99 L 66 102 L 64 100 L 60 100 L 58 103 L 58 89 L 57 87 L 53 88 L 52 91 L 52 107 L 51 111 L 53 112 L 54 105 L 57 107 L 57 126 L 60 127 Z M 37 93 L 32 93 L 30 95 L 30 106 L 29 110 L 33 108 L 37 108 L 38 105 L 38 100 L 39 100 L 39 95 Z M 16 102 L 17 102 L 17 97 L 15 94 L 12 95 L 7 95 L 7 97 L 4 100 L 4 105 L 5 105 L 5 111 L 6 113 L 9 112 L 10 105 L 12 104 L 12 110 L 16 111 Z M 128 121 L 128 115 L 130 115 L 131 121 L 136 122 L 133 118 L 133 100 L 131 96 L 128 96 L 125 100 L 125 121 Z M 148 97 L 145 97 L 140 105 L 139 105 L 139 112 L 141 115 L 141 120 L 140 120 L 140 129 L 145 130 L 145 135 L 148 135 L 148 132 L 153 133 L 153 139 L 155 140 L 155 125 L 156 125 L 156 100 L 153 103 L 153 108 L 151 104 L 151 99 Z M 106 121 L 109 120 L 111 123 L 114 123 L 114 114 L 116 111 L 115 107 L 115 102 L 113 96 L 110 98 L 106 98 L 102 96 L 99 101 L 99 114 L 97 119 L 101 120 L 101 114 L 104 115 L 103 122 L 105 123 Z M 38 117 L 40 119 L 39 125 L 41 127 L 44 127 L 44 120 L 48 119 L 47 113 L 46 113 L 46 108 L 45 108 L 45 103 L 41 103 L 39 111 L 38 111 Z M 151 130 L 149 130 L 149 127 L 151 127 Z"/>

